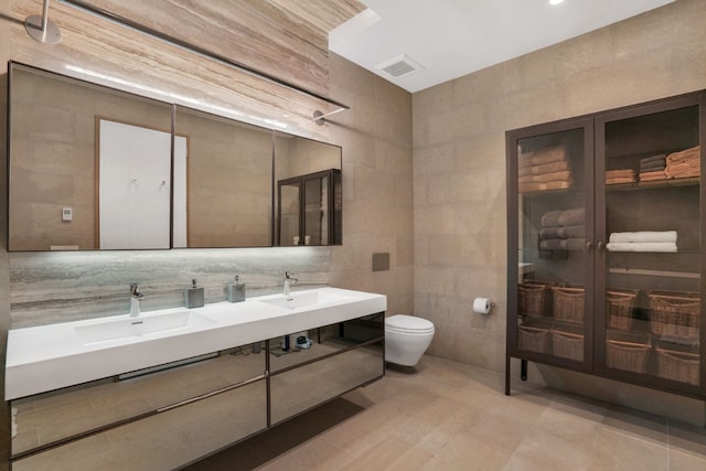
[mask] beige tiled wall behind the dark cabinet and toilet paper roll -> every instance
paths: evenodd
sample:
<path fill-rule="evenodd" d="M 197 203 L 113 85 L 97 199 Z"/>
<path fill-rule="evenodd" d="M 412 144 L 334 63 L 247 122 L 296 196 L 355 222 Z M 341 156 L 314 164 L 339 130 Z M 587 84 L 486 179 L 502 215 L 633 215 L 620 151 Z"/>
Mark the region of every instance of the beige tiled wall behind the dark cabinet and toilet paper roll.
<path fill-rule="evenodd" d="M 432 354 L 504 370 L 505 131 L 706 88 L 705 21 L 703 1 L 680 0 L 413 96 L 414 306 L 436 324 Z M 479 296 L 496 302 L 490 317 L 471 313 Z"/>

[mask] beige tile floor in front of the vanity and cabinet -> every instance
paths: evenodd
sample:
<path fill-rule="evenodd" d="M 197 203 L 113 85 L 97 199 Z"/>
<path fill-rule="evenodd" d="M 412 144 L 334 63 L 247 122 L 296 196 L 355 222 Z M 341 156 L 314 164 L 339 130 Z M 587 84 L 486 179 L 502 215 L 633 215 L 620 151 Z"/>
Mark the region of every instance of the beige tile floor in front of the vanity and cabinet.
<path fill-rule="evenodd" d="M 185 468 L 706 470 L 706 429 L 426 355 Z"/>

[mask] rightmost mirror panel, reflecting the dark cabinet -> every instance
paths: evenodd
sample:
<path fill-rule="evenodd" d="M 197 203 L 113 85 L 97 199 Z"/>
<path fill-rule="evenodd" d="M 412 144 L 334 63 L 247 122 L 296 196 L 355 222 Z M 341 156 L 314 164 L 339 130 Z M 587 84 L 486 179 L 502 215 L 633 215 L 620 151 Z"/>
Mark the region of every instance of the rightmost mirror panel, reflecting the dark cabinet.
<path fill-rule="evenodd" d="M 275 136 L 276 244 L 341 245 L 341 148 Z"/>

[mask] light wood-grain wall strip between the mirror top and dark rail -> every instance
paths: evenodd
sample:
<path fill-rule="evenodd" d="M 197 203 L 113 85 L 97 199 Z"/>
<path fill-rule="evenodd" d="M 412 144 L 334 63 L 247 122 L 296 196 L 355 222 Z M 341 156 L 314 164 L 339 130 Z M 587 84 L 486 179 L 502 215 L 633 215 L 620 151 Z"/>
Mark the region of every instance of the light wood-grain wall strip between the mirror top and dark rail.
<path fill-rule="evenodd" d="M 274 129 L 284 125 L 288 132 L 327 139 L 327 127 L 312 119 L 314 110 L 332 110 L 322 99 L 65 2 L 52 2 L 50 8 L 51 20 L 62 31 L 61 42 L 54 45 L 33 40 L 24 30 L 24 19 L 38 14 L 36 0 L 12 0 L 10 12 L 14 61 L 239 121 Z M 212 42 L 217 42 L 215 35 L 203 47 Z"/>

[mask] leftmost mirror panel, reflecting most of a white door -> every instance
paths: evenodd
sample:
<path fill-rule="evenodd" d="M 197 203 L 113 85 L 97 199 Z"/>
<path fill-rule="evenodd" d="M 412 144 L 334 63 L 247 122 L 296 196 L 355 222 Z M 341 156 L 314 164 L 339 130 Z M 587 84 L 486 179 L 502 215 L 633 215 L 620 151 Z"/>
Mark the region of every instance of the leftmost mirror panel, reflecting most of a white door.
<path fill-rule="evenodd" d="M 169 248 L 171 105 L 14 63 L 9 83 L 9 249 Z"/>

